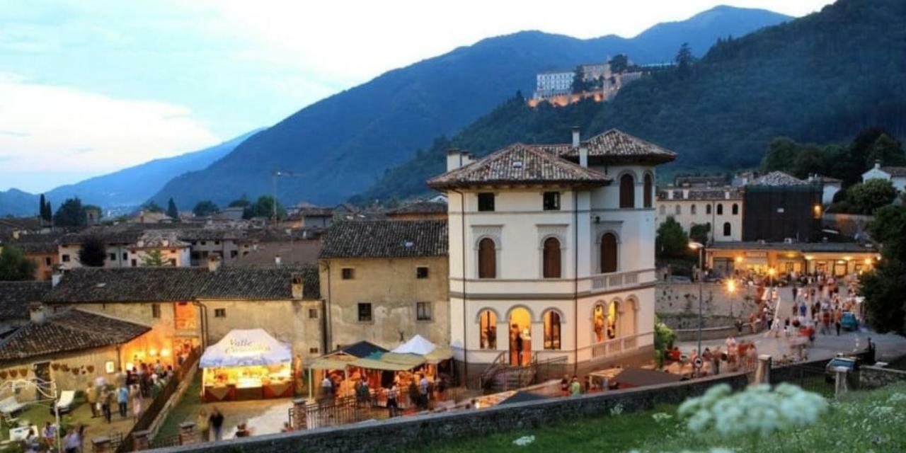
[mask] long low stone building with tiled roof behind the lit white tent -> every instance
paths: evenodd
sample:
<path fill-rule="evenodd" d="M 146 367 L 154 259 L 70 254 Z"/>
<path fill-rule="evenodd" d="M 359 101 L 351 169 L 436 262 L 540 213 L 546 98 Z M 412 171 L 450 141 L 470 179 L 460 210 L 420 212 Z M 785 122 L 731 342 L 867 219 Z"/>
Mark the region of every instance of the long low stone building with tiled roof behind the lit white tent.
<path fill-rule="evenodd" d="M 297 355 L 322 351 L 322 307 L 313 266 L 76 269 L 43 298 L 54 310 L 78 308 L 146 324 L 130 357 L 171 362 L 174 351 L 205 347 L 231 329 L 264 328 Z M 316 355 L 316 354 L 315 354 Z"/>

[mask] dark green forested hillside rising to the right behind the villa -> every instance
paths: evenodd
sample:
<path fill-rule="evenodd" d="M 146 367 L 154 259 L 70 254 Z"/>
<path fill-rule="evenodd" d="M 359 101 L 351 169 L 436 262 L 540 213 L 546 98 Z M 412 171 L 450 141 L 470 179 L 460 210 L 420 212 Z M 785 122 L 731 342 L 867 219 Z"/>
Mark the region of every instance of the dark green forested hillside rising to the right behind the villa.
<path fill-rule="evenodd" d="M 657 72 L 611 102 L 530 109 L 500 105 L 452 140 L 434 146 L 354 198 L 405 198 L 428 190 L 447 147 L 484 155 L 514 141 L 564 142 L 618 128 L 673 149 L 673 169 L 758 164 L 778 136 L 848 142 L 879 126 L 906 134 L 906 2 L 839 0 L 786 24 L 721 40 L 688 71 Z"/>

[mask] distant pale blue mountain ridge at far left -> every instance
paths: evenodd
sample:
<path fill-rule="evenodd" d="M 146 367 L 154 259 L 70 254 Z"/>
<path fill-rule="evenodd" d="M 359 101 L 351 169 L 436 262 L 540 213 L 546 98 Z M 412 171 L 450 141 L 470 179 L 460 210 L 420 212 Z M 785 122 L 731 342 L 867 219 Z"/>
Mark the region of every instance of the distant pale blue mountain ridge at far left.
<path fill-rule="evenodd" d="M 54 209 L 66 198 L 75 196 L 82 198 L 82 203 L 97 205 L 104 209 L 137 207 L 164 187 L 170 179 L 187 171 L 206 168 L 259 131 L 261 130 L 247 132 L 210 148 L 172 158 L 154 159 L 128 169 L 53 188 L 45 192 L 44 196 L 50 200 Z M 178 197 L 176 199 L 179 200 Z M 32 215 L 37 213 L 37 207 L 37 195 L 14 188 L 0 192 L 0 215 Z M 190 206 L 182 204 L 182 207 Z"/>

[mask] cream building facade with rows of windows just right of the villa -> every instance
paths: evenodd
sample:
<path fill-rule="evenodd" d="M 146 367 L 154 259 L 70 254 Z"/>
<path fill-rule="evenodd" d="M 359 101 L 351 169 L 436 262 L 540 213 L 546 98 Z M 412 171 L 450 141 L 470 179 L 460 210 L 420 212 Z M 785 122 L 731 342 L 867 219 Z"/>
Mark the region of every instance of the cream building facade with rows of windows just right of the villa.
<path fill-rule="evenodd" d="M 708 225 L 712 242 L 740 241 L 743 236 L 743 196 L 738 188 L 661 188 L 658 225 L 673 217 L 689 234 L 692 226 Z"/>

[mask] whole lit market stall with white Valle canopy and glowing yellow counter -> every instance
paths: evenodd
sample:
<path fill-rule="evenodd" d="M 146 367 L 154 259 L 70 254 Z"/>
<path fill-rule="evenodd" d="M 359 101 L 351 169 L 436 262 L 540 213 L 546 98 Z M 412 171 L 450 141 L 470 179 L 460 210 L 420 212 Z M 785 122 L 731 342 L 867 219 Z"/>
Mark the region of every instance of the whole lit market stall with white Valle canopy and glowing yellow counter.
<path fill-rule="evenodd" d="M 289 345 L 263 329 L 233 330 L 201 355 L 205 401 L 293 396 Z"/>

